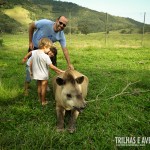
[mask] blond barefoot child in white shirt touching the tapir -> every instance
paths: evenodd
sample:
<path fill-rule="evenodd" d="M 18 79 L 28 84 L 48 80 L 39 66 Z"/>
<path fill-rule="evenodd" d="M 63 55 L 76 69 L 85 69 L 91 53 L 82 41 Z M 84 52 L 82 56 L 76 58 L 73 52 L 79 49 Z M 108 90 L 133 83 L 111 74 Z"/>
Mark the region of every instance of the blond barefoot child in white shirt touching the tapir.
<path fill-rule="evenodd" d="M 49 78 L 48 67 L 53 69 L 56 73 L 63 73 L 63 70 L 58 69 L 54 66 L 47 55 L 52 47 L 52 42 L 48 38 L 42 38 L 39 41 L 39 49 L 34 51 L 34 54 L 31 57 L 31 74 L 33 79 L 37 80 L 38 83 L 38 97 L 42 105 L 46 105 L 48 102 L 45 99 L 46 88 Z M 32 52 L 33 53 L 33 52 Z"/>

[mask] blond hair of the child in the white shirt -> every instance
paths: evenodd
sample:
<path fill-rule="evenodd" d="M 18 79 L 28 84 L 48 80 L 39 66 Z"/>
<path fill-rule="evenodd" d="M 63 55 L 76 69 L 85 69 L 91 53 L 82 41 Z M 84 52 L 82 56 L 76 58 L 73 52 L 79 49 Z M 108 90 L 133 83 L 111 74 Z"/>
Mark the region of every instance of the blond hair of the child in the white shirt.
<path fill-rule="evenodd" d="M 44 48 L 44 46 L 46 48 L 50 48 L 52 45 L 53 45 L 52 41 L 48 38 L 42 38 L 38 43 L 39 48 Z"/>

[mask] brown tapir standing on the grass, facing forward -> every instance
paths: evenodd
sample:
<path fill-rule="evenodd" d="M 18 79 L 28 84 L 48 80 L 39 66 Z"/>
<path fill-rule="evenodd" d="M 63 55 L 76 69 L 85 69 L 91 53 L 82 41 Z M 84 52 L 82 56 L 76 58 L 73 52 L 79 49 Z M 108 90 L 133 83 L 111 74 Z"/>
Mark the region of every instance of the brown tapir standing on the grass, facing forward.
<path fill-rule="evenodd" d="M 68 131 L 76 130 L 75 123 L 79 113 L 85 108 L 89 80 L 76 70 L 66 70 L 52 79 L 56 101 L 57 131 L 64 130 L 65 112 L 70 110 Z"/>

